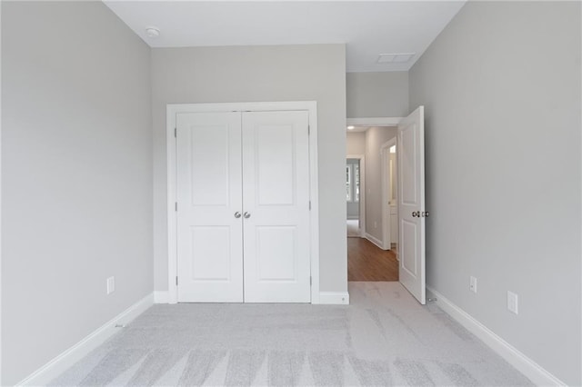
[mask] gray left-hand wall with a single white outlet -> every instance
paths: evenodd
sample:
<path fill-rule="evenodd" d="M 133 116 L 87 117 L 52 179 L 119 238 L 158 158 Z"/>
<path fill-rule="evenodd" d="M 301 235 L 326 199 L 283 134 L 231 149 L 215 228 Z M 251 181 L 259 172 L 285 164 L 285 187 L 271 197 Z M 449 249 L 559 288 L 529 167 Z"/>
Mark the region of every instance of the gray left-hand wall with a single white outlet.
<path fill-rule="evenodd" d="M 152 292 L 149 48 L 100 2 L 2 2 L 2 113 L 6 385 Z"/>

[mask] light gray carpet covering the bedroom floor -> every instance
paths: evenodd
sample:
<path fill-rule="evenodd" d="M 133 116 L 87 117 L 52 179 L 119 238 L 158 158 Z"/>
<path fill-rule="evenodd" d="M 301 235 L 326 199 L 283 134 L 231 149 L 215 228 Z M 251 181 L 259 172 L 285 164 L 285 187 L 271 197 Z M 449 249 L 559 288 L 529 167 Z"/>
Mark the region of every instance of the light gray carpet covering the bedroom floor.
<path fill-rule="evenodd" d="M 155 305 L 51 385 L 533 385 L 399 283 L 349 292 L 349 306 Z"/>

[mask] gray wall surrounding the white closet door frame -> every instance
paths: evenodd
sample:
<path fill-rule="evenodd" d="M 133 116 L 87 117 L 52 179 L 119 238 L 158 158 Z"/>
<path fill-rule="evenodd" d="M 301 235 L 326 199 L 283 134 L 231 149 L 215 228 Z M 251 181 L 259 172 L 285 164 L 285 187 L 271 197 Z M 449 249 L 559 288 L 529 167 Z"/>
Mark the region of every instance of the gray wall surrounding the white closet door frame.
<path fill-rule="evenodd" d="M 345 292 L 344 45 L 152 50 L 156 290 L 167 290 L 166 104 L 317 101 L 320 289 Z M 339 243 L 342 241 L 342 243 Z"/>

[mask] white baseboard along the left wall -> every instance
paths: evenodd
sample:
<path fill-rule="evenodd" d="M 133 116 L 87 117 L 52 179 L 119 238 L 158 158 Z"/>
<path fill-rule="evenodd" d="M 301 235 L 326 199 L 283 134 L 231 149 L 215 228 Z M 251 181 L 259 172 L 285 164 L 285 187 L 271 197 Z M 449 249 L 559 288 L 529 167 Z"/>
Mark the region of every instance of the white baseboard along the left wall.
<path fill-rule="evenodd" d="M 126 324 L 131 322 L 147 308 L 154 304 L 154 294 L 150 293 L 143 299 L 134 303 L 124 312 L 119 313 L 113 319 L 102 325 L 95 332 L 90 333 L 85 339 L 77 342 L 71 348 L 62 352 L 55 359 L 47 362 L 44 366 L 30 374 L 23 381 L 16 383 L 16 386 L 41 386 L 51 382 L 55 377 L 69 369 L 75 362 L 81 360 L 89 352 L 104 343 L 107 339 L 118 332 L 116 324 Z"/>

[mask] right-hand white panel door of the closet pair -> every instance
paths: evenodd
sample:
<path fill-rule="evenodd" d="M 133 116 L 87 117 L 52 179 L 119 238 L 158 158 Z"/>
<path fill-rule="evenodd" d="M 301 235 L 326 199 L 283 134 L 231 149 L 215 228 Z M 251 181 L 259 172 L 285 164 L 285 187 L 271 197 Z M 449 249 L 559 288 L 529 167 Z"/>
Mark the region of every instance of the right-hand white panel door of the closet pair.
<path fill-rule="evenodd" d="M 309 303 L 308 114 L 243 114 L 246 303 Z"/>

